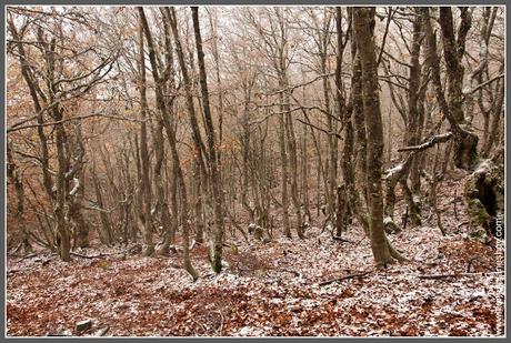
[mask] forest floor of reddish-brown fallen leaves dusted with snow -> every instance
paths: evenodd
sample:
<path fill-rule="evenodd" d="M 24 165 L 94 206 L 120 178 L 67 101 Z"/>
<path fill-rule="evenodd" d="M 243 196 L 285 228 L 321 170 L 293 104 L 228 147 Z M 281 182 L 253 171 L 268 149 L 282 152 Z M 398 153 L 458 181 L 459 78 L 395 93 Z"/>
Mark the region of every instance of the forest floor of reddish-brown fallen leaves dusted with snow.
<path fill-rule="evenodd" d="M 389 235 L 409 262 L 378 272 L 357 226 L 344 233 L 347 242 L 313 226 L 302 241 L 226 248 L 228 266 L 219 275 L 206 246 L 196 244 L 192 262 L 201 278 L 194 283 L 179 266 L 179 253 L 108 255 L 127 251 L 118 246 L 82 250 L 102 255 L 70 263 L 50 253 L 9 258 L 7 335 L 503 335 L 504 244 L 464 239 L 454 189 L 460 184 L 443 186 L 439 196 L 448 235 L 433 216 Z M 83 320 L 92 325 L 78 332 Z"/>

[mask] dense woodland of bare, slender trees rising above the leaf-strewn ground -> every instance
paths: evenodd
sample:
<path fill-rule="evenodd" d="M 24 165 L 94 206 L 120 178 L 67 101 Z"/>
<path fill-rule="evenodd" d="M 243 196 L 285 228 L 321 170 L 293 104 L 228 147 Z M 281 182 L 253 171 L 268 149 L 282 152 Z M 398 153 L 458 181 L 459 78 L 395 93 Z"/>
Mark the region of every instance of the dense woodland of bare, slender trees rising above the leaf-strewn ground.
<path fill-rule="evenodd" d="M 383 268 L 407 258 L 394 233 L 434 215 L 449 235 L 454 173 L 455 215 L 462 196 L 488 243 L 503 211 L 502 14 L 10 7 L 9 246 L 70 261 L 120 243 L 182 254 L 197 280 L 202 249 L 220 273 L 239 245 L 360 229 Z"/>

